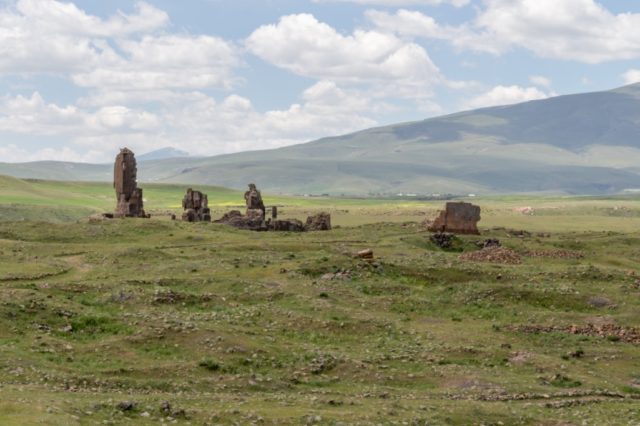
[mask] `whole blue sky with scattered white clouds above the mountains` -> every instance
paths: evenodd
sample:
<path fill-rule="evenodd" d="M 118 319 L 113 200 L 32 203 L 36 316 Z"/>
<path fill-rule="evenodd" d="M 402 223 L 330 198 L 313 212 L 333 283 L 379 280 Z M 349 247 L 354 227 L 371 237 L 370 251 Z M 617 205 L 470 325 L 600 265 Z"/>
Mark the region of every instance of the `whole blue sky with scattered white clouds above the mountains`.
<path fill-rule="evenodd" d="M 276 148 L 640 82 L 637 0 L 0 0 L 0 162 Z"/>

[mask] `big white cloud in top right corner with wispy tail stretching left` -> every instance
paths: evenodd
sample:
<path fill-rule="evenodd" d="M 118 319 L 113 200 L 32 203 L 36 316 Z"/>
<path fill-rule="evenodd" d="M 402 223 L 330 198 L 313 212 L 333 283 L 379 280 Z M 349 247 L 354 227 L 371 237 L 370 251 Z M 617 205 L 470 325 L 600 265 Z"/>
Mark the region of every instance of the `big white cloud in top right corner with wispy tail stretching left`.
<path fill-rule="evenodd" d="M 640 58 L 640 14 L 614 14 L 594 0 L 484 0 L 478 16 L 459 26 L 407 10 L 367 17 L 389 32 L 446 39 L 460 49 L 495 55 L 524 48 L 590 64 Z"/>

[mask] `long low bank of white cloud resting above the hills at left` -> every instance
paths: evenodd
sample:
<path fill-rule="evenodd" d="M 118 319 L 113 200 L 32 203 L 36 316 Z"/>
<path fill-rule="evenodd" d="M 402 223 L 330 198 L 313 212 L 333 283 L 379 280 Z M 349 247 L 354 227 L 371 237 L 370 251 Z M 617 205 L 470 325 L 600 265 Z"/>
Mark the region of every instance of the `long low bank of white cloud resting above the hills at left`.
<path fill-rule="evenodd" d="M 345 90 L 331 81 L 307 88 L 299 103 L 266 112 L 257 111 L 249 99 L 238 95 L 218 102 L 199 92 L 174 94 L 160 111 L 150 112 L 125 105 L 95 110 L 58 106 L 33 93 L 0 98 L 0 132 L 65 142 L 51 142 L 54 146 L 49 150 L 20 151 L 2 158 L 25 161 L 46 154 L 66 161 L 74 159 L 74 153 L 83 153 L 75 161 L 110 161 L 123 141 L 136 152 L 174 146 L 198 155 L 275 148 L 374 126 L 372 111 L 385 107 L 364 92 Z"/>

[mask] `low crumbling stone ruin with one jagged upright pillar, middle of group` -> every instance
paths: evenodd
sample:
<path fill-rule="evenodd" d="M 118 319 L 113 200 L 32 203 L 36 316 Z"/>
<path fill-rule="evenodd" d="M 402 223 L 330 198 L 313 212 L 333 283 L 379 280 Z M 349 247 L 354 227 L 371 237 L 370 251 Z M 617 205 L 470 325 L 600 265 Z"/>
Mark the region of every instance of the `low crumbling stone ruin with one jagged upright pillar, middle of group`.
<path fill-rule="evenodd" d="M 262 201 L 262 195 L 253 183 L 249 184 L 249 190 L 244 193 L 244 199 L 247 206 L 244 215 L 239 210 L 232 210 L 225 213 L 215 223 L 223 223 L 234 228 L 251 231 L 305 232 L 331 230 L 331 215 L 328 213 L 309 216 L 305 224 L 298 219 L 278 219 L 278 209 L 273 206 L 271 208 L 271 218 L 265 220 L 266 208 Z"/>

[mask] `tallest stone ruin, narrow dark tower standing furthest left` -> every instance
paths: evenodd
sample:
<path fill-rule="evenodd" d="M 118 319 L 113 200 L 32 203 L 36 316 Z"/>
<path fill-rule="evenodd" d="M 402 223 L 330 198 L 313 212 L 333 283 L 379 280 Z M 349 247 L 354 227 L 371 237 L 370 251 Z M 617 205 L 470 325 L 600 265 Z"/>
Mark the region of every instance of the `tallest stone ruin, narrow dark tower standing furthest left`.
<path fill-rule="evenodd" d="M 148 217 L 144 212 L 137 173 L 135 155 L 128 148 L 122 148 L 113 166 L 113 187 L 118 201 L 115 217 Z"/>

